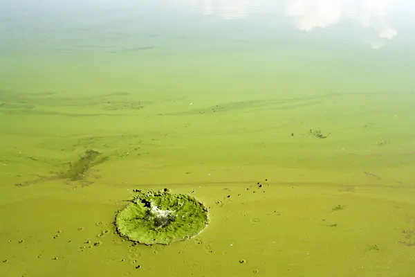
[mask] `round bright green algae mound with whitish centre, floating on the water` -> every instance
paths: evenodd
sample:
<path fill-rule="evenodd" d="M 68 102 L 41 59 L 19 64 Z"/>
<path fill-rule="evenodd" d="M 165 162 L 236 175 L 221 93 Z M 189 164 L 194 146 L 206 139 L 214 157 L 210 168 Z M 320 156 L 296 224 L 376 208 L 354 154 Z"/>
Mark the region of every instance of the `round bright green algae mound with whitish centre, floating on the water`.
<path fill-rule="evenodd" d="M 208 208 L 194 197 L 134 190 L 131 203 L 116 216 L 117 231 L 142 244 L 170 244 L 199 235 L 209 224 Z"/>

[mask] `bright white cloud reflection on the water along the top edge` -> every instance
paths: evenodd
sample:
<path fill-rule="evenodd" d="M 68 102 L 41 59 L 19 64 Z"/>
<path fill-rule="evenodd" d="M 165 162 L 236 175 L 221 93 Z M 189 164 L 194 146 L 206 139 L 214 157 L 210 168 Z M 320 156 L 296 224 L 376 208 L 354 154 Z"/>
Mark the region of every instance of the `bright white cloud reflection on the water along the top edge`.
<path fill-rule="evenodd" d="M 387 21 L 391 6 L 402 5 L 398 0 L 170 0 L 190 6 L 205 15 L 223 19 L 241 19 L 250 13 L 283 12 L 295 28 L 312 32 L 348 21 L 369 30 L 365 39 L 371 48 L 382 48 L 398 35 Z"/>

